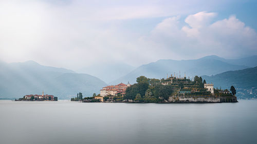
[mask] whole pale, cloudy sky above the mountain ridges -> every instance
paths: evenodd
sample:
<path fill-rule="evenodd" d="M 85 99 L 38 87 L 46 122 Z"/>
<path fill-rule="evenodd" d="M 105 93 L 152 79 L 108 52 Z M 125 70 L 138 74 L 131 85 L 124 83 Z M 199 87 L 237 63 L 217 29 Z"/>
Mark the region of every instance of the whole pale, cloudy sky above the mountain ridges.
<path fill-rule="evenodd" d="M 0 0 L 0 60 L 77 70 L 257 54 L 256 1 Z"/>

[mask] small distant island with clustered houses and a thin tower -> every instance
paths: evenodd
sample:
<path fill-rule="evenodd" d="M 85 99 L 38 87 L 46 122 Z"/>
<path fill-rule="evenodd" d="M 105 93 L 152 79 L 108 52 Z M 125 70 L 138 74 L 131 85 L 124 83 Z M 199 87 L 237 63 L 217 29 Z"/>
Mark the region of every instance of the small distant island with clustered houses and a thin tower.
<path fill-rule="evenodd" d="M 53 95 L 44 95 L 44 91 L 42 92 L 42 95 L 38 94 L 30 94 L 25 95 L 23 98 L 15 99 L 15 101 L 57 101 L 58 97 Z"/>

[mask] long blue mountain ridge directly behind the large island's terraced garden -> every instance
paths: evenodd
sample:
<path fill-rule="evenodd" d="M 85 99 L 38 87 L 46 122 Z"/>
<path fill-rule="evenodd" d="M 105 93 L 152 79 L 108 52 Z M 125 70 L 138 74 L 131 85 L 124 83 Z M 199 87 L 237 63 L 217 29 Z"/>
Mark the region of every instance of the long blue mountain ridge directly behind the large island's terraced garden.
<path fill-rule="evenodd" d="M 112 84 L 121 82 L 126 83 L 127 81 L 135 83 L 136 78 L 141 75 L 149 78 L 163 78 L 166 77 L 167 74 L 174 75 L 175 72 L 179 77 L 179 70 L 181 72 L 181 77 L 185 76 L 185 72 L 187 77 L 193 77 L 195 75 L 214 75 L 230 70 L 241 70 L 245 68 L 249 67 L 226 63 L 223 58 L 217 56 L 207 56 L 193 60 L 161 59 L 154 63 L 136 68 L 127 75 L 112 81 Z"/>

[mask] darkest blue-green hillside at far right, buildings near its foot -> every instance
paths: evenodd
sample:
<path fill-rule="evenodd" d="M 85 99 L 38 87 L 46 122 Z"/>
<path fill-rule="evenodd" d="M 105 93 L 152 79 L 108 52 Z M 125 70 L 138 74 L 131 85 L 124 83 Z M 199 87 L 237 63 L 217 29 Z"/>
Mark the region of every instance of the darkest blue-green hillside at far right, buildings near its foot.
<path fill-rule="evenodd" d="M 234 86 L 240 98 L 257 98 L 257 67 L 201 77 L 207 83 L 213 83 L 215 88 L 230 89 Z"/>

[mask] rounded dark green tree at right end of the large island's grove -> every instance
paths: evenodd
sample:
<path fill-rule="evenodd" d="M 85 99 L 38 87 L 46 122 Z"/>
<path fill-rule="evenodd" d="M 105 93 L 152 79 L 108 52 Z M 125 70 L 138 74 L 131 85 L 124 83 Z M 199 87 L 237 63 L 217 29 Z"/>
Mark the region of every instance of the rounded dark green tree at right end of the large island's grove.
<path fill-rule="evenodd" d="M 168 100 L 169 96 L 171 96 L 173 90 L 172 90 L 172 86 L 171 85 L 157 85 L 154 88 L 154 96 L 156 98 L 158 97 L 163 97 L 164 99 Z"/>

